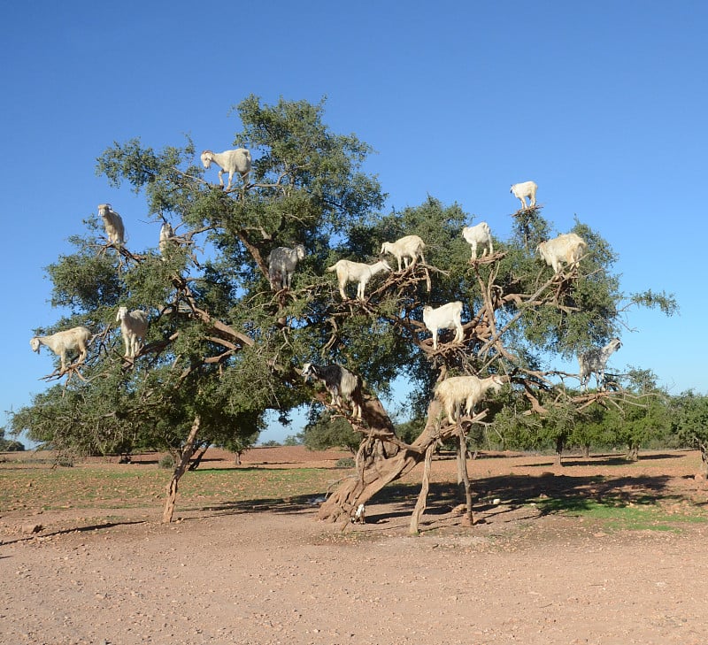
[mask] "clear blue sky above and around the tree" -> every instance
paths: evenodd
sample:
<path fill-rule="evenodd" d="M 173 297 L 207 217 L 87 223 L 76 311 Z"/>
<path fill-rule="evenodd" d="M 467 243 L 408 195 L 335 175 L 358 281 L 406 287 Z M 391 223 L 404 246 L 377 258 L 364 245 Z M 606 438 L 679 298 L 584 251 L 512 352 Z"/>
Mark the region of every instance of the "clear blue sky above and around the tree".
<path fill-rule="evenodd" d="M 695 1 L 6 4 L 0 411 L 45 387 L 50 355 L 28 344 L 58 318 L 43 269 L 81 220 L 110 202 L 131 249 L 156 245 L 96 157 L 134 136 L 227 150 L 251 93 L 327 96 L 327 124 L 376 150 L 389 207 L 458 202 L 504 239 L 510 184 L 535 180 L 557 232 L 577 215 L 612 244 L 624 291 L 679 301 L 630 311 L 612 368 L 705 392 L 706 24 Z"/>

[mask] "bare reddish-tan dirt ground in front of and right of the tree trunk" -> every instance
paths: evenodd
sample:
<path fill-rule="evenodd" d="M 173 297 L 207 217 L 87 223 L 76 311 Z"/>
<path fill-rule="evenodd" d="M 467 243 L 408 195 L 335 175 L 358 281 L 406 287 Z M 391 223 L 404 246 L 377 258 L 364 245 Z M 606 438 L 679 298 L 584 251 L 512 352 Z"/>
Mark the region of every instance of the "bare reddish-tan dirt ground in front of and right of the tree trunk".
<path fill-rule="evenodd" d="M 244 461 L 304 458 L 284 450 Z M 563 468 L 549 457 L 479 458 L 470 462 L 470 527 L 449 496 L 454 461 L 442 460 L 419 536 L 408 534 L 415 499 L 403 487 L 374 498 L 366 525 L 345 531 L 318 522 L 307 503 L 189 513 L 178 505 L 181 520 L 169 526 L 157 505 L 120 509 L 119 522 L 81 530 L 75 511 L 3 513 L 0 642 L 704 645 L 708 524 L 612 530 L 529 503 L 650 497 L 682 517 L 708 503 L 697 464 L 692 452 L 637 464 L 569 457 Z M 22 534 L 35 521 L 42 532 Z"/>

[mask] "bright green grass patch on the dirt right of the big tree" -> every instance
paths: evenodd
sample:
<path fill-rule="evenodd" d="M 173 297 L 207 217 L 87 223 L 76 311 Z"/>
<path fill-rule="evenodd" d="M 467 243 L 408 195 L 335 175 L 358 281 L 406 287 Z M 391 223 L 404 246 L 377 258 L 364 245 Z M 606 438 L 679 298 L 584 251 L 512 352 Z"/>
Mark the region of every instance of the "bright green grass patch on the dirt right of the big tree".
<path fill-rule="evenodd" d="M 666 508 L 650 497 L 632 501 L 605 497 L 601 501 L 580 497 L 538 499 L 535 505 L 544 515 L 560 513 L 594 520 L 613 531 L 680 532 L 686 523 L 706 522 L 704 511 L 696 506 Z"/>

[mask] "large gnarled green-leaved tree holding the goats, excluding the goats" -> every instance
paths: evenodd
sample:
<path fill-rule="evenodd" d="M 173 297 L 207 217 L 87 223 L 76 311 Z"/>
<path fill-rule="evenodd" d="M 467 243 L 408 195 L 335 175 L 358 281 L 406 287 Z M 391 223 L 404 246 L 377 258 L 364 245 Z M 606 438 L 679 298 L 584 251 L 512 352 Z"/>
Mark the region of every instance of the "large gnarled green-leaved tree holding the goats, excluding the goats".
<path fill-rule="evenodd" d="M 85 365 L 73 368 L 81 379 L 62 378 L 12 418 L 14 429 L 59 449 L 172 449 L 179 465 L 166 519 L 199 442 L 252 436 L 268 411 L 287 421 L 303 404 L 330 406 L 327 393 L 301 378 L 305 362 L 337 362 L 366 381 L 362 419 L 350 419 L 362 435 L 357 477 L 319 511 L 336 521 L 425 461 L 435 442 L 450 437 L 464 444 L 473 423 L 501 427 L 519 414 L 543 418 L 559 405 L 581 409 L 612 396 L 566 389 L 566 375 L 546 365 L 619 334 L 631 303 L 673 311 L 671 296 L 623 295 L 609 245 L 578 221 L 573 231 L 588 252 L 573 271 L 553 275 L 534 253 L 550 234 L 540 206 L 489 215 L 496 254 L 472 264 L 460 233 L 474 218 L 457 204 L 429 197 L 417 207 L 381 212 L 381 187 L 363 172 L 371 149 L 353 134 L 333 133 L 323 103 L 267 105 L 249 96 L 236 113 L 242 131 L 233 143 L 253 157 L 248 185 L 219 188 L 189 141 L 156 151 L 134 139 L 98 158 L 109 184 L 127 183 L 145 197 L 145 207 L 128 212 L 113 198 L 127 244 L 108 243 L 92 215 L 87 233 L 71 238 L 75 252 L 47 268 L 52 303 L 69 314 L 46 331 L 82 324 L 95 340 Z M 161 254 L 163 222 L 174 237 Z M 139 226 L 154 228 L 153 247 L 130 248 L 131 229 Z M 500 230 L 512 231 L 506 242 Z M 365 300 L 342 301 L 326 267 L 342 257 L 373 262 L 381 242 L 406 234 L 426 242 L 427 264 L 380 274 Z M 266 258 L 276 247 L 297 244 L 305 257 L 291 288 L 274 292 Z M 422 307 L 453 300 L 464 303 L 463 340 L 442 334 L 434 350 Z M 148 337 L 132 360 L 120 352 L 121 305 L 150 314 Z M 464 373 L 500 374 L 508 387 L 474 418 L 450 425 L 438 418 L 433 388 Z M 427 419 L 412 442 L 396 435 L 383 403 L 396 378 L 409 384 L 411 418 Z M 424 506 L 421 495 L 418 516 Z"/>

